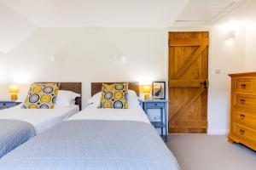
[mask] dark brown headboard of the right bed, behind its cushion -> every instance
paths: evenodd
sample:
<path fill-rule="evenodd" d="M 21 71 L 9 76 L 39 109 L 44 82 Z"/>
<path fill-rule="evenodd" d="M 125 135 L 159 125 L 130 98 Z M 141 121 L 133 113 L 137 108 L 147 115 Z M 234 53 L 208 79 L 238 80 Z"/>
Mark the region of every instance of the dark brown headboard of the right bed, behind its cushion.
<path fill-rule="evenodd" d="M 90 95 L 93 96 L 94 94 L 97 94 L 98 92 L 102 91 L 102 83 L 115 83 L 115 82 L 91 82 L 90 83 Z M 119 83 L 119 82 L 116 82 Z M 136 92 L 137 96 L 140 94 L 140 86 L 138 82 L 129 82 L 129 89 Z"/>

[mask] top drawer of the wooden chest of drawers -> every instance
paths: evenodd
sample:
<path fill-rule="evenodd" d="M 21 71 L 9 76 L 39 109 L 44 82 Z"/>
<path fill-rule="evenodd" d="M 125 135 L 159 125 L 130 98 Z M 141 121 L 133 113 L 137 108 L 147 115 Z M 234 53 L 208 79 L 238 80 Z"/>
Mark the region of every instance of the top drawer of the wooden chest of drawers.
<path fill-rule="evenodd" d="M 253 79 L 237 79 L 234 80 L 234 88 L 236 92 L 253 93 Z"/>

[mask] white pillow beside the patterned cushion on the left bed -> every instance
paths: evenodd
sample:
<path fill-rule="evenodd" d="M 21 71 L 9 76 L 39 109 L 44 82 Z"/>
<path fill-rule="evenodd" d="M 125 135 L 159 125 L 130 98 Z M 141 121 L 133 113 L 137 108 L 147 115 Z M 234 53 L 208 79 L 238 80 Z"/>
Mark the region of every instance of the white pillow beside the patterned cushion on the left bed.
<path fill-rule="evenodd" d="M 74 105 L 75 99 L 80 97 L 80 94 L 76 94 L 67 90 L 59 90 L 55 105 L 71 106 Z"/>

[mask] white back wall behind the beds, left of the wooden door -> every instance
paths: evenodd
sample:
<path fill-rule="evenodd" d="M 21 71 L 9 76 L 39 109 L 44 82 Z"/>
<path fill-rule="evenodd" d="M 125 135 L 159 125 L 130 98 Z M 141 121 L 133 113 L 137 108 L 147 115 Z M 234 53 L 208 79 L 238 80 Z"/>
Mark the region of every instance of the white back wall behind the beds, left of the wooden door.
<path fill-rule="evenodd" d="M 8 82 L 21 97 L 28 82 L 83 82 L 85 106 L 90 82 L 165 80 L 166 42 L 165 29 L 39 28 L 6 55 Z"/>

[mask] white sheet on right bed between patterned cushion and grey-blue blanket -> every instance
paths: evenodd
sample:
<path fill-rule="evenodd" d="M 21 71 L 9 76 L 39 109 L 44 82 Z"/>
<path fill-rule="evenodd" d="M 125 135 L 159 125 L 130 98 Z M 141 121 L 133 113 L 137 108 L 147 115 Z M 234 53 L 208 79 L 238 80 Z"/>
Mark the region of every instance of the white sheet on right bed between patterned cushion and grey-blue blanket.
<path fill-rule="evenodd" d="M 148 116 L 140 105 L 131 109 L 99 109 L 97 106 L 95 104 L 89 105 L 83 111 L 67 120 L 110 120 L 150 123 Z"/>

